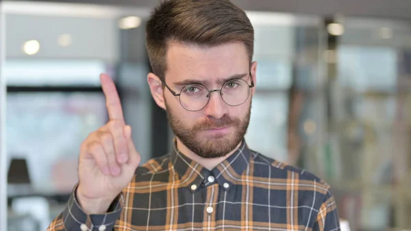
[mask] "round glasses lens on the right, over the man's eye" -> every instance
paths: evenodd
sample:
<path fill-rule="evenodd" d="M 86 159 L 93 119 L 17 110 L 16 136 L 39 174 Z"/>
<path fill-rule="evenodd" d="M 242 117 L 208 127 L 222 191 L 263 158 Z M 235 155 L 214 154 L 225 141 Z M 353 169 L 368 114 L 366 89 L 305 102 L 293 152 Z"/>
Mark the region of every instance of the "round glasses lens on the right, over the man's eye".
<path fill-rule="evenodd" d="M 250 93 L 249 84 L 245 80 L 231 80 L 223 86 L 223 100 L 231 106 L 238 106 L 244 103 Z"/>

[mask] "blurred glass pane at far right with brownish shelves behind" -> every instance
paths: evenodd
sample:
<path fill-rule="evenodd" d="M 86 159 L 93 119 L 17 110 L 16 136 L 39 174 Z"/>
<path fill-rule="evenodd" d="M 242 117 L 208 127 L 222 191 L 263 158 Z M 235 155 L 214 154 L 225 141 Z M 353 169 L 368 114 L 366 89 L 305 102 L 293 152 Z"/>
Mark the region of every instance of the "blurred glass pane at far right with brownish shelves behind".
<path fill-rule="evenodd" d="M 343 177 L 327 181 L 351 230 L 410 228 L 411 26 L 356 18 L 344 24 L 329 135 Z"/>

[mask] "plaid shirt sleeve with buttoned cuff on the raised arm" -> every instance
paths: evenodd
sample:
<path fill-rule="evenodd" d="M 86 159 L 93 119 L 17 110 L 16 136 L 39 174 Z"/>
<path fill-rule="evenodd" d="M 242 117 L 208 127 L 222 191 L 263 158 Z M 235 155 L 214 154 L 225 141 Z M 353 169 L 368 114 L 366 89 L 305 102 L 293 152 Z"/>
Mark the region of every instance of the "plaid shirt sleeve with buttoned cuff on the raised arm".
<path fill-rule="evenodd" d="M 73 192 L 66 204 L 63 212 L 51 221 L 47 231 L 112 231 L 114 224 L 121 216 L 121 211 L 124 208 L 123 193 L 114 199 L 108 212 L 101 215 L 86 215 L 77 202 L 75 197 L 74 187 Z"/>

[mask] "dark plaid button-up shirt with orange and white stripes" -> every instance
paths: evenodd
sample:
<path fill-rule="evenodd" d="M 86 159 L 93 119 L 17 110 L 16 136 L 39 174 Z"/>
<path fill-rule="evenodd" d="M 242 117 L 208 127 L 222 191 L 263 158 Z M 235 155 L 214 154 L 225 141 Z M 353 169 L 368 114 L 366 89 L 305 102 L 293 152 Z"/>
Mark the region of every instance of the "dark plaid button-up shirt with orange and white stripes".
<path fill-rule="evenodd" d="M 75 189 L 53 230 L 340 230 L 329 185 L 245 142 L 209 171 L 177 151 L 138 167 L 104 215 L 86 215 Z"/>

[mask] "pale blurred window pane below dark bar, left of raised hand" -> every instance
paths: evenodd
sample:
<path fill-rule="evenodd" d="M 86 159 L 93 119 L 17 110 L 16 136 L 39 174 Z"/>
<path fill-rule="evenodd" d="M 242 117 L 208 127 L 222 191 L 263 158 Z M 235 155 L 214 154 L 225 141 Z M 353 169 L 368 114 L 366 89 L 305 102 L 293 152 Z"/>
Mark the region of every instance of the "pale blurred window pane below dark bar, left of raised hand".
<path fill-rule="evenodd" d="M 68 194 L 79 146 L 107 121 L 102 93 L 9 93 L 7 153 L 25 158 L 33 194 Z M 22 192 L 10 188 L 10 196 Z"/>

